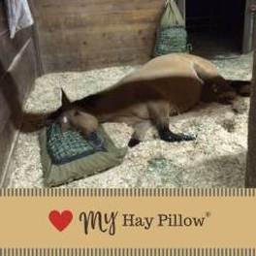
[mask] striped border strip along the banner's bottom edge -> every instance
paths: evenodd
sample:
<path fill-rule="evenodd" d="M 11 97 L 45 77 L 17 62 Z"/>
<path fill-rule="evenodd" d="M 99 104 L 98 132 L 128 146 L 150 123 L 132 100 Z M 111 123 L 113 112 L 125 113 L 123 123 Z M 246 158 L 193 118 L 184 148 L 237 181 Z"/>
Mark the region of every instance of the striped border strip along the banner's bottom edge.
<path fill-rule="evenodd" d="M 255 256 L 256 248 L 0 248 L 1 256 Z"/>

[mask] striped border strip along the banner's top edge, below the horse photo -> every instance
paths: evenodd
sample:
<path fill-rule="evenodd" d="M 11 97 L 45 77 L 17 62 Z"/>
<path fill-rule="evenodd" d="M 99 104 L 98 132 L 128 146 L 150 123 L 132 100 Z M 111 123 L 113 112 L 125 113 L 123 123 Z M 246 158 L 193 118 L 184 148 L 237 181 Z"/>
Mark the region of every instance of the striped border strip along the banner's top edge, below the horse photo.
<path fill-rule="evenodd" d="M 0 188 L 1 197 L 256 197 L 254 188 Z"/>

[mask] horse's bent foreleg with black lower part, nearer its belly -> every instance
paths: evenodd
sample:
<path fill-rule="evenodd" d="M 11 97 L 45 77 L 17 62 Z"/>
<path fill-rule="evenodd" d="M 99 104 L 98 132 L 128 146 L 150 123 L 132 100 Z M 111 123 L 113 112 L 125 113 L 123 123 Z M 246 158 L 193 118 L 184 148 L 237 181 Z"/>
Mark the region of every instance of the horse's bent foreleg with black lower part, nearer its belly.
<path fill-rule="evenodd" d="M 167 101 L 158 101 L 148 104 L 148 112 L 161 140 L 170 143 L 195 140 L 193 136 L 175 134 L 170 130 L 170 105 Z"/>

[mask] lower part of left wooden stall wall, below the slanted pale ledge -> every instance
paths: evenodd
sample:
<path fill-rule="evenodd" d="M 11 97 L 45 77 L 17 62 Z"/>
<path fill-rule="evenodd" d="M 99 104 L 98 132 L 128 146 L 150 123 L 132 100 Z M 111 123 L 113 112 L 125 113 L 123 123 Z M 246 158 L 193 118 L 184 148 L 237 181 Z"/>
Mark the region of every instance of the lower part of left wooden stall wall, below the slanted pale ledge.
<path fill-rule="evenodd" d="M 11 70 L 0 80 L 0 184 L 21 123 L 23 103 L 37 76 L 35 62 L 35 48 L 30 41 L 13 62 Z"/>

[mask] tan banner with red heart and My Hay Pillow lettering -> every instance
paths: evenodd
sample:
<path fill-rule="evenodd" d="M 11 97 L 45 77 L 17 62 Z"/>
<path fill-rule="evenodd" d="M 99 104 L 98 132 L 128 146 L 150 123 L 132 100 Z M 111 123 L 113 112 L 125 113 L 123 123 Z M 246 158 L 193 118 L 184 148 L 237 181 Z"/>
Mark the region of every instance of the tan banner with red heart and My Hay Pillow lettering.
<path fill-rule="evenodd" d="M 0 247 L 254 248 L 255 194 L 253 189 L 2 189 Z"/>

